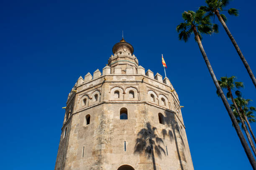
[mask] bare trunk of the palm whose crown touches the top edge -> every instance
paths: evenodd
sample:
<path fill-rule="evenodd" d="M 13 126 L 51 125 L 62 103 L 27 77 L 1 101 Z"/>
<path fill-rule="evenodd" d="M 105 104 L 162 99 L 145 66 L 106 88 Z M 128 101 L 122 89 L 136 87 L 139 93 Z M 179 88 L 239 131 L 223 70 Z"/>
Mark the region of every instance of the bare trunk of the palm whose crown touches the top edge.
<path fill-rule="evenodd" d="M 228 30 L 228 27 L 226 25 L 226 23 L 224 22 L 224 20 L 222 19 L 222 17 L 220 16 L 220 13 L 218 10 L 215 11 L 215 14 L 217 15 L 220 23 L 222 24 L 222 26 L 224 27 L 225 31 L 227 32 L 228 34 L 228 37 L 230 38 L 231 42 L 233 43 L 234 47 L 236 48 L 236 51 L 238 53 L 238 55 L 240 56 L 241 60 L 243 61 L 243 65 L 246 67 L 246 70 L 248 72 L 248 74 L 250 75 L 251 77 L 251 80 L 253 81 L 253 84 L 256 88 L 256 79 L 253 75 L 253 72 L 251 71 L 251 68 L 248 64 L 248 62 L 246 61 L 245 57 L 243 57 L 243 53 L 241 52 L 240 48 L 238 47 L 237 43 L 236 43 L 236 40 L 234 39 L 233 35 L 231 34 L 231 32 Z"/>

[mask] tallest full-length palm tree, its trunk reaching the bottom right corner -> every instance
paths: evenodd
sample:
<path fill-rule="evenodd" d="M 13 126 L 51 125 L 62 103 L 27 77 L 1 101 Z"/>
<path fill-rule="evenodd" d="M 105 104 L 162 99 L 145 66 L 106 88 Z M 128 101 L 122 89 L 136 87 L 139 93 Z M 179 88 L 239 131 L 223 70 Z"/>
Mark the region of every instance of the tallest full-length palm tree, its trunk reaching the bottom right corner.
<path fill-rule="evenodd" d="M 251 163 L 251 166 L 253 167 L 254 170 L 256 170 L 256 162 L 253 157 L 253 154 L 251 153 L 251 150 L 246 142 L 246 139 L 243 136 L 240 126 L 238 125 L 238 122 L 236 121 L 236 117 L 233 115 L 230 105 L 223 93 L 223 90 L 221 89 L 221 87 L 218 83 L 218 80 L 212 70 L 210 61 L 208 60 L 208 57 L 207 57 L 205 50 L 202 46 L 200 33 L 209 34 L 212 32 L 212 24 L 210 23 L 210 16 L 205 16 L 205 11 L 203 11 L 203 10 L 197 10 L 196 12 L 194 12 L 194 11 L 186 12 L 185 11 L 184 13 L 182 13 L 182 18 L 184 19 L 184 23 L 180 23 L 176 28 L 177 32 L 179 32 L 179 40 L 184 40 L 185 42 L 187 42 L 190 35 L 194 32 L 195 40 L 197 41 L 197 44 L 200 48 L 200 51 L 202 53 L 202 56 L 205 60 L 206 65 L 208 67 L 208 70 L 210 72 L 212 80 L 220 94 L 220 97 L 223 101 L 223 104 L 226 107 L 226 110 L 228 111 L 228 115 L 230 116 L 230 119 L 234 125 L 234 128 L 236 129 L 236 133 L 238 134 L 238 137 L 243 145 L 243 148 L 244 148 L 246 155 Z"/>

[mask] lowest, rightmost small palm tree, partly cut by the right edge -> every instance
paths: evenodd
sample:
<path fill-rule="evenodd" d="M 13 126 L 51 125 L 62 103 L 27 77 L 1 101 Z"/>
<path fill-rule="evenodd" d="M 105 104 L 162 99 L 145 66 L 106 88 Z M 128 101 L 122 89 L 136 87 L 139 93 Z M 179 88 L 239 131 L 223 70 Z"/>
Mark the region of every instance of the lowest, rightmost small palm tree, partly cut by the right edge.
<path fill-rule="evenodd" d="M 237 105 L 239 111 L 242 114 L 243 119 L 246 121 L 246 123 L 248 125 L 248 128 L 251 132 L 251 135 L 253 137 L 254 142 L 256 143 L 256 138 L 255 138 L 255 135 L 254 135 L 254 133 L 251 129 L 251 125 L 250 125 L 250 122 L 256 122 L 255 117 L 253 115 L 253 112 L 256 111 L 256 108 L 252 107 L 252 106 L 248 107 L 249 102 L 252 101 L 252 100 L 251 99 L 244 99 L 242 97 L 237 97 L 234 100 L 236 102 L 236 105 Z M 238 114 L 235 110 L 235 106 L 231 105 L 231 108 L 234 110 L 234 114 L 236 115 L 236 117 L 238 117 Z M 239 119 L 239 122 L 241 122 L 240 119 Z"/>

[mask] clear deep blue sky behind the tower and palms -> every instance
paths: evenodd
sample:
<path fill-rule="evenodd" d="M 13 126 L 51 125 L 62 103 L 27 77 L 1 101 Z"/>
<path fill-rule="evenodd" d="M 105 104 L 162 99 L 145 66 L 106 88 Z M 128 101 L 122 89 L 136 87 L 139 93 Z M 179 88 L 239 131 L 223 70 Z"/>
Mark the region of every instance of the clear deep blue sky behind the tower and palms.
<path fill-rule="evenodd" d="M 54 168 L 64 119 L 61 107 L 80 75 L 102 70 L 122 30 L 146 70 L 164 75 L 164 54 L 167 77 L 184 105 L 195 170 L 251 169 L 194 37 L 184 43 L 175 30 L 184 10 L 204 4 L 203 0 L 2 1 L 1 169 Z M 227 15 L 227 25 L 256 74 L 256 2 L 234 0 L 230 7 L 238 8 L 240 15 Z M 245 83 L 244 97 L 256 100 L 246 69 L 219 28 L 219 34 L 204 35 L 202 41 L 216 76 L 237 76 Z"/>

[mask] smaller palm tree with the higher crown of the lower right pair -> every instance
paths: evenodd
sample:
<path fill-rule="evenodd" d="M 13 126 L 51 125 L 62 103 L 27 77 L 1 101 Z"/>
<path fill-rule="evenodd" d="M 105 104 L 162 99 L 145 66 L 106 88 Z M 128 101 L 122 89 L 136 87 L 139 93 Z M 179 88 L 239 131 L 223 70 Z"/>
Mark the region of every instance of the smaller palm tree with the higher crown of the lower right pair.
<path fill-rule="evenodd" d="M 255 149 L 255 146 L 254 146 L 253 141 L 252 141 L 252 139 L 251 139 L 251 135 L 250 135 L 250 133 L 249 133 L 248 130 L 247 130 L 246 124 L 245 124 L 245 122 L 243 121 L 243 117 L 242 117 L 242 115 L 241 115 L 241 113 L 240 113 L 240 111 L 239 111 L 239 109 L 238 109 L 238 106 L 236 105 L 236 102 L 235 102 L 234 97 L 233 97 L 233 94 L 232 94 L 232 90 L 234 90 L 235 87 L 236 87 L 236 88 L 244 87 L 244 86 L 243 86 L 243 82 L 235 82 L 235 80 L 236 80 L 236 77 L 235 77 L 235 76 L 231 76 L 231 77 L 220 77 L 220 80 L 218 80 L 218 83 L 220 84 L 220 87 L 221 87 L 222 89 L 227 89 L 227 90 L 228 90 L 228 92 L 227 92 L 227 97 L 228 97 L 229 99 L 231 98 L 231 100 L 232 100 L 232 102 L 233 102 L 233 105 L 234 105 L 234 107 L 235 107 L 235 109 L 236 109 L 236 113 L 238 114 L 238 116 L 239 116 L 239 118 L 240 118 L 240 121 L 241 121 L 241 123 L 242 123 L 243 130 L 245 131 L 246 136 L 247 136 L 247 138 L 248 138 L 248 141 L 249 141 L 249 143 L 250 143 L 250 145 L 251 145 L 251 148 L 253 149 L 253 153 L 254 153 L 254 155 L 256 155 L 256 149 Z M 239 92 L 239 91 L 236 91 L 236 93 L 239 94 L 240 92 Z M 218 94 L 218 91 L 217 91 L 217 94 Z"/>

